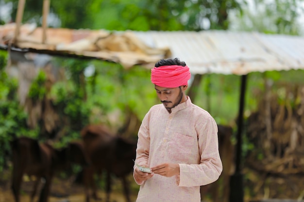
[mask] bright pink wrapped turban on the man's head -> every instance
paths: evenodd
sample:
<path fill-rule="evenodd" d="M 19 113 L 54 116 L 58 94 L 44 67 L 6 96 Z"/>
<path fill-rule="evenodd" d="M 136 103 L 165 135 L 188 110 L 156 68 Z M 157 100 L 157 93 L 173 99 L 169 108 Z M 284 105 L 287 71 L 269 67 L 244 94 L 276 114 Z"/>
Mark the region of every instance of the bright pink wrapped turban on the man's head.
<path fill-rule="evenodd" d="M 151 81 L 153 84 L 165 87 L 176 88 L 188 85 L 191 74 L 188 66 L 168 65 L 154 67 L 151 70 Z"/>

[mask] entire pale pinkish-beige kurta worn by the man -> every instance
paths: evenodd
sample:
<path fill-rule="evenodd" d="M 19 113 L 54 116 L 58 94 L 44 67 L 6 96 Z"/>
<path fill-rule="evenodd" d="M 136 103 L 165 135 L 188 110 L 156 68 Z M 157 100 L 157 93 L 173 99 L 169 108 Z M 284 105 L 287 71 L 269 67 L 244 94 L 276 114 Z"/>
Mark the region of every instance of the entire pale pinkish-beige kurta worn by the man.
<path fill-rule="evenodd" d="M 135 162 L 180 166 L 180 175 L 154 174 L 143 182 L 136 202 L 200 202 L 200 186 L 216 181 L 222 171 L 217 124 L 189 97 L 171 113 L 163 104 L 155 105 L 138 131 Z"/>

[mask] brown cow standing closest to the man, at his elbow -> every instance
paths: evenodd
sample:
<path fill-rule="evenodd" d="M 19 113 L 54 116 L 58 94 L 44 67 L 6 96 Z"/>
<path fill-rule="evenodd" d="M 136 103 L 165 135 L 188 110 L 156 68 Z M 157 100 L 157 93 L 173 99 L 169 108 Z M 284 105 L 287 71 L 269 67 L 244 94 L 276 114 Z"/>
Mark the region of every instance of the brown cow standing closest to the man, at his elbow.
<path fill-rule="evenodd" d="M 101 175 L 102 171 L 106 171 L 106 202 L 110 199 L 112 174 L 122 180 L 126 201 L 130 202 L 126 177 L 133 171 L 136 143 L 113 135 L 104 125 L 88 125 L 81 131 L 81 136 L 91 163 L 89 167 L 84 168 L 83 173 L 86 202 L 90 201 L 90 187 L 93 198 L 98 199 L 93 176 L 95 173 Z"/>

